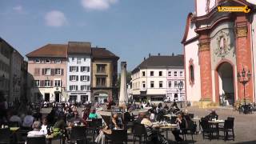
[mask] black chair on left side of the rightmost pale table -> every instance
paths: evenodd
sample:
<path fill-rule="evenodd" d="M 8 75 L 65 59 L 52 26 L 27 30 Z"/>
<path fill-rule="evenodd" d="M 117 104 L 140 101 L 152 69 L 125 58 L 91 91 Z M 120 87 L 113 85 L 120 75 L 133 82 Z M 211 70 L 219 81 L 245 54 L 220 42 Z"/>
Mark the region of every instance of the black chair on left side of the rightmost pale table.
<path fill-rule="evenodd" d="M 218 130 L 215 128 L 212 128 L 210 126 L 210 123 L 208 122 L 207 119 L 202 118 L 201 121 L 199 122 L 200 126 L 202 127 L 202 138 L 205 139 L 205 135 L 208 134 L 208 137 L 210 140 L 213 138 L 214 133 L 218 133 Z"/>

